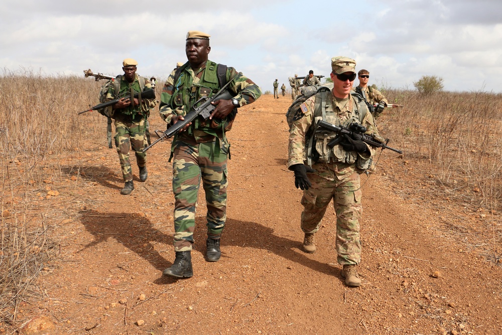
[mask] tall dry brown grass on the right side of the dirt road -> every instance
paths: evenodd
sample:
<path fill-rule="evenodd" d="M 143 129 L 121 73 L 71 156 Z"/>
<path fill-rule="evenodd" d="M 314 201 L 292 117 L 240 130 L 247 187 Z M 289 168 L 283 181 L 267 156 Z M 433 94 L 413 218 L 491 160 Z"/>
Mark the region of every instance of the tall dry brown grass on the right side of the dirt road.
<path fill-rule="evenodd" d="M 389 90 L 385 135 L 423 158 L 442 187 L 470 190 L 480 206 L 497 208 L 502 196 L 501 95 L 483 92 L 441 92 L 422 96 L 416 91 Z M 465 197 L 466 192 L 456 192 Z M 453 194 L 453 196 L 455 196 Z M 469 197 L 468 197 L 469 198 Z"/>

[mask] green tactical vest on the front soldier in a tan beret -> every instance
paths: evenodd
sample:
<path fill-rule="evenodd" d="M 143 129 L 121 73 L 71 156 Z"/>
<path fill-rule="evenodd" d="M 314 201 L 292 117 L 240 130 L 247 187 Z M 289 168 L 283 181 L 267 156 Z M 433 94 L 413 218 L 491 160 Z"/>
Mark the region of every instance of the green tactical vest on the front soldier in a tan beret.
<path fill-rule="evenodd" d="M 198 101 L 202 96 L 211 97 L 217 93 L 222 86 L 226 84 L 227 66 L 216 64 L 209 61 L 206 63 L 204 74 L 200 78 L 196 86 L 189 84 L 189 77 L 183 71 L 190 64 L 187 62 L 178 68 L 174 75 L 173 84 L 173 104 L 176 107 L 183 106 L 185 113 L 190 111 L 192 103 Z M 233 119 L 237 114 L 237 108 L 234 108 L 231 113 L 223 120 L 213 119 L 212 121 L 203 121 L 197 118 L 193 121 L 193 129 L 218 137 L 219 134 L 231 129 Z M 192 134 L 192 127 L 188 129 L 188 133 Z"/>

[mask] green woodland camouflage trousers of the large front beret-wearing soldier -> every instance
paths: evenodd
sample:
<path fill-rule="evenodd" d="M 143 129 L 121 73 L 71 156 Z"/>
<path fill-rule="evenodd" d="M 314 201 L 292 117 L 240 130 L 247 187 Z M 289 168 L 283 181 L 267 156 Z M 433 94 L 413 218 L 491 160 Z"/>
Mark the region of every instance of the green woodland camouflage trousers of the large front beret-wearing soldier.
<path fill-rule="evenodd" d="M 226 220 L 228 143 L 219 141 L 194 146 L 178 142 L 174 150 L 173 192 L 174 250 L 192 250 L 195 206 L 200 181 L 206 195 L 207 236 L 219 239 Z"/>

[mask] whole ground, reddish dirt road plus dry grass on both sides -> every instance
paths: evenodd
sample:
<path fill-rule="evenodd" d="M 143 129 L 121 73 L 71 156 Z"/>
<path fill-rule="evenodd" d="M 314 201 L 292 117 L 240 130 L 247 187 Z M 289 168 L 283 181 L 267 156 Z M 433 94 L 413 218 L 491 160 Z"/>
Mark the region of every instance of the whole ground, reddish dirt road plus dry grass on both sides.
<path fill-rule="evenodd" d="M 26 333 L 41 316 L 52 333 L 77 334 L 498 333 L 500 94 L 386 90 L 405 107 L 386 109 L 378 127 L 404 154 L 384 151 L 363 188 L 363 285 L 347 289 L 333 264 L 333 213 L 320 250 L 300 251 L 288 95 L 242 108 L 228 135 L 224 260 L 211 268 L 195 255 L 192 279 L 162 278 L 174 259 L 169 143 L 149 151 L 147 183 L 120 196 L 105 119 L 77 116 L 103 83 L 0 76 L 0 334 Z M 151 124 L 165 128 L 156 111 Z"/>

